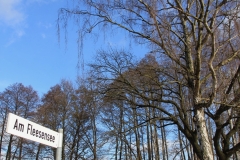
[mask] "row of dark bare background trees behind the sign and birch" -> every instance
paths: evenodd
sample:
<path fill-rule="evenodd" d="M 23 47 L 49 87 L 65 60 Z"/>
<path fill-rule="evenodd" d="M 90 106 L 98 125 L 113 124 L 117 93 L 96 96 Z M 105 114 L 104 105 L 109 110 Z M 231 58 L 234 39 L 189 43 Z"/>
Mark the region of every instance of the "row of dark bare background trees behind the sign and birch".
<path fill-rule="evenodd" d="M 183 77 L 175 70 L 166 72 L 166 66 L 155 53 L 137 60 L 123 50 L 100 50 L 89 65 L 87 78 L 78 78 L 75 84 L 62 80 L 41 98 L 31 86 L 10 85 L 0 93 L 1 158 L 55 157 L 55 149 L 5 132 L 11 112 L 55 131 L 63 128 L 62 159 L 66 160 L 202 159 L 197 153 L 201 144 L 191 94 Z M 239 72 L 236 65 L 227 69 L 232 70 L 228 76 Z M 236 79 L 233 86 L 238 90 L 238 76 Z M 217 149 L 224 152 L 226 148 L 228 158 L 239 158 L 238 113 L 233 106 L 206 108 L 214 159 L 220 159 Z M 219 119 L 211 114 L 219 114 Z M 222 125 L 220 144 L 215 140 L 220 129 L 217 124 Z"/>

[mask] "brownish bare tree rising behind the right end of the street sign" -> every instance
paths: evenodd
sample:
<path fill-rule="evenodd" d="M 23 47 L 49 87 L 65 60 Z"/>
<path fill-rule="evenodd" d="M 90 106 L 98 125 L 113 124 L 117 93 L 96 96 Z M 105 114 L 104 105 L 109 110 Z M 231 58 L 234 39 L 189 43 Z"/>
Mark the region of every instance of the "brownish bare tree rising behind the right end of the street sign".
<path fill-rule="evenodd" d="M 69 129 L 69 117 L 72 114 L 72 97 L 74 96 L 74 88 L 71 82 L 62 80 L 60 84 L 52 87 L 42 98 L 42 105 L 38 109 L 37 120 L 44 126 L 57 130 L 63 129 L 63 150 L 62 159 L 65 159 L 66 136 Z M 55 150 L 53 150 L 55 157 Z"/>

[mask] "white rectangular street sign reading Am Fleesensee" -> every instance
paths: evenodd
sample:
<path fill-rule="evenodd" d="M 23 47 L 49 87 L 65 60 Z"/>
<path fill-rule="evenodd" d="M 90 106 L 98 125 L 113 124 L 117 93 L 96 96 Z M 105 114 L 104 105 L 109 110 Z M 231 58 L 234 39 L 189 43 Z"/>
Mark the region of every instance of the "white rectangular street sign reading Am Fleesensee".
<path fill-rule="evenodd" d="M 59 143 L 62 141 L 60 140 L 62 137 L 60 133 L 40 126 L 12 113 L 8 114 L 6 132 L 54 148 L 62 146 L 62 143 Z"/>

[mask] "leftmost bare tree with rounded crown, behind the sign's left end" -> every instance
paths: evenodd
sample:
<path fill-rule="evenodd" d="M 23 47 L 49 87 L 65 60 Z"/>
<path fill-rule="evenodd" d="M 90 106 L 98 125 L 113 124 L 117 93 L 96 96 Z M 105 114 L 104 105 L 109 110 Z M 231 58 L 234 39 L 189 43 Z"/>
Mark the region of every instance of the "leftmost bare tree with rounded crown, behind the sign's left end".
<path fill-rule="evenodd" d="M 12 159 L 18 157 L 19 159 L 25 156 L 25 153 L 32 152 L 27 148 L 28 142 L 22 138 L 14 137 L 10 135 L 4 135 L 6 115 L 8 113 L 14 113 L 23 118 L 32 118 L 33 113 L 38 107 L 39 97 L 37 92 L 33 90 L 31 86 L 24 86 L 21 83 L 15 83 L 0 93 L 1 114 L 3 115 L 2 123 L 2 135 L 1 145 L 3 144 L 3 137 L 6 139 L 7 154 L 6 159 Z M 8 138 L 6 138 L 8 137 Z M 24 147 L 25 146 L 25 147 Z M 1 150 L 3 146 L 1 146 Z M 14 149 L 14 151 L 13 151 Z M 28 158 L 28 157 L 26 157 Z"/>

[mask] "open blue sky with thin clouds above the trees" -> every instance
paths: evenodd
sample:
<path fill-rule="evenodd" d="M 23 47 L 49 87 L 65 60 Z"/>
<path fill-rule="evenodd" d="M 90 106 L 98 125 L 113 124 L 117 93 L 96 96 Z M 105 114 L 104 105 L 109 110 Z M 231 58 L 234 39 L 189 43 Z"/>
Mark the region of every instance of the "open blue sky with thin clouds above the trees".
<path fill-rule="evenodd" d="M 66 5 L 66 0 L 0 0 L 0 91 L 23 83 L 42 95 L 61 79 L 76 80 L 76 28 L 69 25 L 67 45 L 57 36 L 58 10 Z M 126 36 L 109 37 L 84 38 L 85 63 L 106 46 L 129 47 Z"/>

